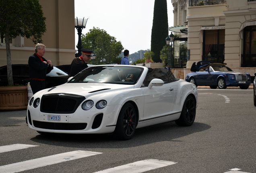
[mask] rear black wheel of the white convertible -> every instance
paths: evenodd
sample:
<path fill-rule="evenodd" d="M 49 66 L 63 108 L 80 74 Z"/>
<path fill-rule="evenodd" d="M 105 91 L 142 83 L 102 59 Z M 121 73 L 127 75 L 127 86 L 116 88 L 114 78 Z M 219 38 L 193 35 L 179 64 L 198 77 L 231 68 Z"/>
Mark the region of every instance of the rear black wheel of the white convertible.
<path fill-rule="evenodd" d="M 182 107 L 180 118 L 175 121 L 178 126 L 191 126 L 196 118 L 196 101 L 189 95 Z"/>

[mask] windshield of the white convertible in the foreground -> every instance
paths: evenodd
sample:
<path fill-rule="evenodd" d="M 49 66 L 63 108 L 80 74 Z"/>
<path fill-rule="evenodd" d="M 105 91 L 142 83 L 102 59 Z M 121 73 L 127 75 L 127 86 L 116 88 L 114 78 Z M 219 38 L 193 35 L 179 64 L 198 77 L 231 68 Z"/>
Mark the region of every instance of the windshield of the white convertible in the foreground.
<path fill-rule="evenodd" d="M 68 83 L 135 84 L 143 69 L 133 66 L 91 66 L 78 73 Z"/>

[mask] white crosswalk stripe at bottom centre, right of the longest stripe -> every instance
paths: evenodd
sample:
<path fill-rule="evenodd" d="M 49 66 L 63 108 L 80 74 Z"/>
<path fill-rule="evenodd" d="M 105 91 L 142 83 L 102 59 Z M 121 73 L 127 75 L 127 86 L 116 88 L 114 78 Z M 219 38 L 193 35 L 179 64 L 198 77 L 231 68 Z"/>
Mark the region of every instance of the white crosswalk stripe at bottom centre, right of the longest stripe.
<path fill-rule="evenodd" d="M 126 165 L 122 165 L 122 166 L 118 166 L 118 167 L 114 167 L 114 168 L 105 169 L 105 170 L 98 171 L 95 173 L 117 173 L 117 172 L 141 173 L 141 172 L 149 171 L 152 169 L 157 169 L 160 167 L 173 165 L 175 163 L 177 163 L 177 162 L 146 159 L 146 160 L 142 160 L 142 161 L 128 163 Z"/>

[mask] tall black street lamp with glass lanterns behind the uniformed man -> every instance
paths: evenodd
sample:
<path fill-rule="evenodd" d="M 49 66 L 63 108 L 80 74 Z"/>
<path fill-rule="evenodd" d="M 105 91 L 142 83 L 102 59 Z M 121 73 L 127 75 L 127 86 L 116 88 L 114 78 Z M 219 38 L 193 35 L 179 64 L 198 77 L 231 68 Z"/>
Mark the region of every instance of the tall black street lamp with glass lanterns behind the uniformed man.
<path fill-rule="evenodd" d="M 79 57 L 82 55 L 81 49 L 83 48 L 83 46 L 82 46 L 82 42 L 81 42 L 81 35 L 82 35 L 83 28 L 85 28 L 87 20 L 88 20 L 88 18 L 87 19 L 85 19 L 85 18 L 78 19 L 77 17 L 75 18 L 75 28 L 77 29 L 77 34 L 78 34 L 78 43 L 76 46 L 76 48 L 78 50 L 77 50 L 77 53 L 75 54 L 75 57 Z"/>

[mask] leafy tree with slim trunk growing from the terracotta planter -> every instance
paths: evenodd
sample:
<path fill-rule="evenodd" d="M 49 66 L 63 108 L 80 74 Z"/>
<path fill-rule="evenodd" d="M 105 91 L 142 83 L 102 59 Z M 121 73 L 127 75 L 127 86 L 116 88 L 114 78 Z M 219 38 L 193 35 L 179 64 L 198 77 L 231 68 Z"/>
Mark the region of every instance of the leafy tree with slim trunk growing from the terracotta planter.
<path fill-rule="evenodd" d="M 0 37 L 5 38 L 8 84 L 13 85 L 10 40 L 17 36 L 42 42 L 45 17 L 38 0 L 0 0 Z"/>

